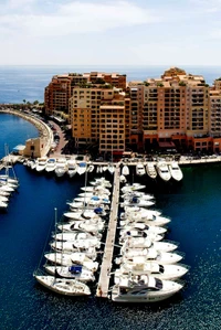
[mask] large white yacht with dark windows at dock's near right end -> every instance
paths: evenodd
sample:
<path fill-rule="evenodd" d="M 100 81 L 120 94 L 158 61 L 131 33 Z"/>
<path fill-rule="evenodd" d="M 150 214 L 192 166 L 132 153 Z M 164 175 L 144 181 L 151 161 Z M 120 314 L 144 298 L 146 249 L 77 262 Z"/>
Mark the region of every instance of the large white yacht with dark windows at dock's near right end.
<path fill-rule="evenodd" d="M 156 302 L 170 298 L 183 285 L 154 276 L 120 277 L 112 289 L 112 300 L 116 302 Z"/>

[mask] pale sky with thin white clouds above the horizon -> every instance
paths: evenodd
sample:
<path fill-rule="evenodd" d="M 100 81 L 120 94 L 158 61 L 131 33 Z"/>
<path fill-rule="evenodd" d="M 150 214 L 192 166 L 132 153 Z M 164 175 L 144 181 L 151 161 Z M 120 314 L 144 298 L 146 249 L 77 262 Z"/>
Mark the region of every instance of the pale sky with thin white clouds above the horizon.
<path fill-rule="evenodd" d="M 221 0 L 1 0 L 0 65 L 221 65 Z"/>

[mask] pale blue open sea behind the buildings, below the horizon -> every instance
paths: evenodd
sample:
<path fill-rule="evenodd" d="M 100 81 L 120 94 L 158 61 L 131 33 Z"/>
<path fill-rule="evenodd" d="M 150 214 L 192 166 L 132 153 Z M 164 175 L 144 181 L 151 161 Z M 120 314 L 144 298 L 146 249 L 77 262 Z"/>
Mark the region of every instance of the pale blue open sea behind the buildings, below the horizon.
<path fill-rule="evenodd" d="M 186 66 L 180 65 L 187 73 L 204 76 L 209 85 L 221 76 L 221 66 Z M 167 66 L 2 66 L 0 65 L 0 104 L 43 102 L 44 88 L 53 75 L 69 72 L 86 73 L 91 71 L 117 72 L 127 75 L 127 81 L 145 81 L 159 77 Z"/>

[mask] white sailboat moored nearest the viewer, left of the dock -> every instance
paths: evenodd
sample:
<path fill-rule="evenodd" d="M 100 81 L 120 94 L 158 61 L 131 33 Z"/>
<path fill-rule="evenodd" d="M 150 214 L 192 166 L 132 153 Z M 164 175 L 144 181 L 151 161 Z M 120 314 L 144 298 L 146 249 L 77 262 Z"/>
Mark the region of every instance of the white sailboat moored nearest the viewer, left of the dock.
<path fill-rule="evenodd" d="M 61 278 L 51 275 L 35 275 L 35 279 L 45 288 L 64 296 L 90 296 L 87 285 L 72 278 Z"/>

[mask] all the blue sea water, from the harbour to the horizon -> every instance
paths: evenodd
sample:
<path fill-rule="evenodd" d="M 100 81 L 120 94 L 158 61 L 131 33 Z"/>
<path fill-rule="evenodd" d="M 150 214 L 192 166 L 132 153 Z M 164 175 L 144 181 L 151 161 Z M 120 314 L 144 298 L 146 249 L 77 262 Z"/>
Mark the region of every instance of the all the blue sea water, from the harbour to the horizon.
<path fill-rule="evenodd" d="M 183 66 L 180 66 L 183 67 Z M 118 67 L 128 79 L 160 76 L 168 67 Z M 183 67 L 185 68 L 185 67 Z M 65 72 L 113 71 L 114 67 L 0 66 L 0 103 L 43 102 L 52 75 Z M 187 68 L 186 68 L 187 70 Z M 209 84 L 221 76 L 221 67 L 192 67 Z M 39 132 L 30 123 L 0 114 L 0 158 L 6 145 L 11 151 Z M 85 184 L 75 175 L 56 179 L 14 166 L 20 187 L 0 213 L 0 330 L 218 330 L 221 329 L 221 166 L 182 167 L 180 183 L 129 177 L 145 182 L 155 195 L 154 209 L 169 216 L 166 238 L 179 243 L 182 263 L 190 267 L 181 292 L 155 305 L 119 305 L 108 299 L 69 298 L 41 287 L 33 272 L 42 266 L 43 254 L 59 219 Z M 98 174 L 91 173 L 88 180 Z M 105 174 L 112 180 L 110 174 Z M 95 291 L 95 286 L 92 287 Z"/>

